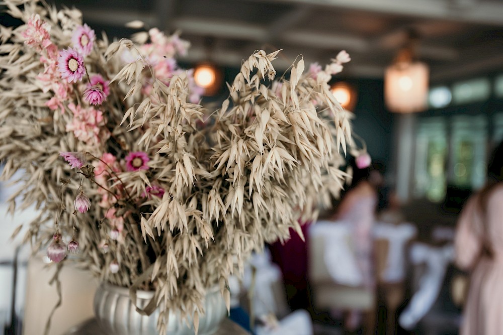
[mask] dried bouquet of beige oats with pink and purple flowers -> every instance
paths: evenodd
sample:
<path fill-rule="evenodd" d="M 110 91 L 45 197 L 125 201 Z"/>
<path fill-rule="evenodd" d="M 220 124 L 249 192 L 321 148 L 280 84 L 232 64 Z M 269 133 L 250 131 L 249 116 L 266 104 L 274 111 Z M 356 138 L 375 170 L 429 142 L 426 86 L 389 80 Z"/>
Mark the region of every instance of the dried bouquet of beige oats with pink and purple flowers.
<path fill-rule="evenodd" d="M 329 91 L 346 52 L 322 70 L 298 60 L 273 81 L 279 51 L 256 51 L 209 113 L 189 43 L 151 29 L 96 37 L 75 9 L 6 0 L 25 22 L 0 26 L 0 159 L 24 171 L 12 212 L 36 205 L 24 238 L 62 264 L 67 253 L 102 281 L 155 291 L 162 306 L 203 313 L 206 290 L 242 271 L 265 242 L 301 233 L 338 196 L 348 112 Z M 16 203 L 16 198 L 22 203 Z M 59 267 L 58 267 L 59 268 Z M 197 327 L 197 325 L 196 325 Z"/>

